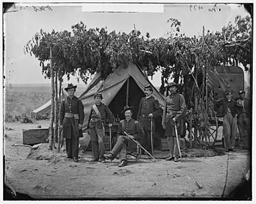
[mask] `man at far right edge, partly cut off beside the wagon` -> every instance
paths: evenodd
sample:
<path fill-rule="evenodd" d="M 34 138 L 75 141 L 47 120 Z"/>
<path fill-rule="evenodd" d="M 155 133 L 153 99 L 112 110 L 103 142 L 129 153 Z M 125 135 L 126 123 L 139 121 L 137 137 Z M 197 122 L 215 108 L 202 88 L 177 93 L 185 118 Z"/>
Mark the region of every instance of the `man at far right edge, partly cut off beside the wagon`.
<path fill-rule="evenodd" d="M 240 134 L 240 145 L 244 149 L 248 149 L 248 142 L 251 142 L 252 135 L 248 135 L 250 128 L 250 100 L 244 98 L 245 92 L 243 89 L 239 90 L 239 99 L 237 100 L 237 126 Z M 250 138 L 248 138 L 250 136 Z M 249 143 L 250 144 L 250 143 Z"/>

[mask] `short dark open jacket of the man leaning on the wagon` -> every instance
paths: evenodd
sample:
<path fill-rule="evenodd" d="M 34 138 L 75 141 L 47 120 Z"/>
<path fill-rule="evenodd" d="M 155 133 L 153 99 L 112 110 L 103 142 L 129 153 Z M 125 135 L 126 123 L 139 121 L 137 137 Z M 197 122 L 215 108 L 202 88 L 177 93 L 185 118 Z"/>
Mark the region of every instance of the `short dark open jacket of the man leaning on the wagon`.
<path fill-rule="evenodd" d="M 220 108 L 220 106 L 223 106 L 222 108 L 222 115 L 226 115 L 228 108 L 230 109 L 230 112 L 232 114 L 233 117 L 236 116 L 237 113 L 237 101 L 234 99 L 231 99 L 230 101 L 228 101 L 227 98 L 223 98 L 220 101 L 215 101 L 214 104 L 214 110 L 218 111 L 218 109 Z"/>

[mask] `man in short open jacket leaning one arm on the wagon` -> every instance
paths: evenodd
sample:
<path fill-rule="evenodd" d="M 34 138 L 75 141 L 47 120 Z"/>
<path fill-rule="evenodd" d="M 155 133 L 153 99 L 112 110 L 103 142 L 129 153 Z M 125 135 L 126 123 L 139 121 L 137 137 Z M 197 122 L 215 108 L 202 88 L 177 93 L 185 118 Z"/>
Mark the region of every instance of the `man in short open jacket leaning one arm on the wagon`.
<path fill-rule="evenodd" d="M 227 89 L 225 91 L 225 98 L 220 101 L 215 101 L 215 112 L 222 105 L 223 115 L 223 135 L 225 138 L 226 152 L 235 152 L 235 140 L 237 133 L 237 102 L 232 99 L 232 92 Z"/>

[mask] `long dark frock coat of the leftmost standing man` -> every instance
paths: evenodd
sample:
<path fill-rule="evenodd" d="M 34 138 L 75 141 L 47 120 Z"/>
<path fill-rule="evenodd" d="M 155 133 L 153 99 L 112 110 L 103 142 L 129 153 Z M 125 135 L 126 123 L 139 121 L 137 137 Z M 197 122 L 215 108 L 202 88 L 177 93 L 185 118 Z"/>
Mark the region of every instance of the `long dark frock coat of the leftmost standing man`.
<path fill-rule="evenodd" d="M 73 113 L 79 115 L 79 124 L 83 124 L 84 121 L 84 106 L 81 100 L 79 100 L 76 96 L 67 99 L 63 99 L 60 105 L 60 125 L 63 126 L 63 137 L 71 138 L 71 130 L 73 127 L 74 130 L 74 118 L 65 117 L 65 113 Z M 76 131 L 74 134 L 77 135 Z M 79 137 L 83 137 L 82 130 L 79 130 Z"/>

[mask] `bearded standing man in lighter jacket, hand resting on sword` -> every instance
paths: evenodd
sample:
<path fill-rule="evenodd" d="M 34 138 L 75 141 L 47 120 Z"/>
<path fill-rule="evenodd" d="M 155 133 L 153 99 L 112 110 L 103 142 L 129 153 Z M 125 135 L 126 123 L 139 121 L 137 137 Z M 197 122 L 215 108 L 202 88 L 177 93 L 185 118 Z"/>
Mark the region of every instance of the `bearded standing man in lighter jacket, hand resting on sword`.
<path fill-rule="evenodd" d="M 180 130 L 182 127 L 182 119 L 186 115 L 186 101 L 182 94 L 179 94 L 177 91 L 179 85 L 174 82 L 168 85 L 170 87 L 171 94 L 167 96 L 164 101 L 164 112 L 162 126 L 165 129 L 165 135 L 167 136 L 167 143 L 170 149 L 170 157 L 165 159 L 166 161 L 175 162 L 179 161 L 179 148 L 177 143 L 177 136 L 175 134 L 175 126 L 177 124 L 177 133 L 178 133 L 178 142 L 180 145 Z"/>

